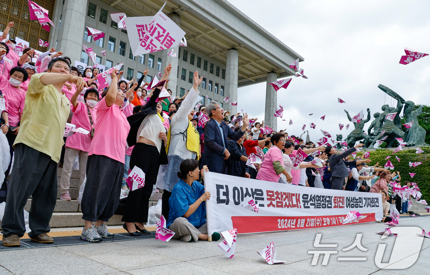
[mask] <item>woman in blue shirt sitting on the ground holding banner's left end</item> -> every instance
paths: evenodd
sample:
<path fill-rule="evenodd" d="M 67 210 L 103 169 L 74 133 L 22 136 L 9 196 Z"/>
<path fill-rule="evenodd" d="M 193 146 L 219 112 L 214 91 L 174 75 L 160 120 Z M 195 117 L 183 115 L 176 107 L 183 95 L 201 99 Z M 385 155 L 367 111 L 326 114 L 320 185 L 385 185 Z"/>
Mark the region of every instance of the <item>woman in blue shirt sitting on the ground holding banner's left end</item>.
<path fill-rule="evenodd" d="M 169 220 L 167 228 L 175 232 L 174 239 L 188 242 L 208 239 L 206 224 L 206 205 L 204 201 L 211 197 L 205 192 L 204 186 L 197 181 L 200 178 L 199 162 L 195 159 L 185 159 L 179 166 L 179 181 L 173 187 L 169 198 Z M 206 168 L 206 171 L 209 171 Z M 203 170 L 202 170 L 203 173 Z M 215 232 L 213 241 L 218 241 L 221 234 Z"/>

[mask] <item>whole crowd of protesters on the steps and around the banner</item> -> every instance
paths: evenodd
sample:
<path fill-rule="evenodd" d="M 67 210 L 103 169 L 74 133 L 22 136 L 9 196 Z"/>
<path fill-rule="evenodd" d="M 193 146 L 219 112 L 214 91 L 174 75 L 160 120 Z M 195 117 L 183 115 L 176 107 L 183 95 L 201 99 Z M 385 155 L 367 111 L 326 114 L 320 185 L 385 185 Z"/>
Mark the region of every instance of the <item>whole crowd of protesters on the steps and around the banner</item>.
<path fill-rule="evenodd" d="M 100 89 L 98 68 L 86 67 L 81 74 L 70 58 L 53 48 L 41 54 L 36 64 L 31 62 L 33 49 L 17 55 L 12 50 L 15 41 L 5 39 L 11 25 L 0 42 L 0 89 L 6 101 L 1 129 L 11 156 L 5 180 L 14 156 L 1 222 L 3 245 L 20 245 L 25 233 L 22 210 L 30 196 L 28 235 L 40 243 L 53 242 L 47 233 L 57 198 L 57 167 L 62 167 L 60 200 L 71 201 L 70 177 L 77 157 L 79 187 L 85 182 L 81 238 L 91 242 L 114 237 L 106 222 L 114 215 L 121 189 L 129 189 L 126 178 L 135 166 L 145 173 L 145 185 L 129 191 L 123 228 L 131 235 L 150 234 L 144 223 L 155 185 L 163 191 L 167 226 L 176 233 L 174 238 L 183 241 L 208 239 L 203 202 L 211 194 L 204 192 L 199 181 L 204 180 L 203 169 L 298 186 L 381 192 L 384 198 L 392 197 L 393 180 L 398 177 L 395 185 L 400 184 L 398 172 L 395 176 L 378 164 L 369 167 L 369 159 L 352 159 L 351 153 L 363 144 L 338 154 L 332 146 L 304 143 L 285 130 L 266 133 L 264 121 L 249 119 L 247 113 L 230 116 L 216 101 L 196 107 L 202 81 L 197 71 L 193 88 L 173 99 L 157 100 L 163 86 L 167 88 L 170 64 L 156 88 L 142 83 L 147 70 L 138 81 L 127 81 L 123 71 L 114 70 L 111 85 Z M 209 120 L 199 125 L 202 113 Z M 66 122 L 89 134 L 64 138 Z M 299 151 L 307 158 L 293 164 Z M 261 163 L 247 165 L 251 154 Z M 407 212 L 407 202 L 399 199 L 393 194 L 399 212 Z M 384 220 L 389 221 L 385 209 L 384 204 Z M 220 237 L 212 235 L 214 240 Z"/>

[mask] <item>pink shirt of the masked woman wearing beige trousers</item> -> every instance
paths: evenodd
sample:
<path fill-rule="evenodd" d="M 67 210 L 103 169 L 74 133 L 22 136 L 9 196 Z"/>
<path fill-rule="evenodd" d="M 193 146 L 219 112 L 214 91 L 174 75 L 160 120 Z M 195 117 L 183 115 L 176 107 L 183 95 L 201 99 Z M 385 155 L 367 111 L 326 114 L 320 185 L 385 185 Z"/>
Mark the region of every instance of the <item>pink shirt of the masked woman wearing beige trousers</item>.
<path fill-rule="evenodd" d="M 86 108 L 86 104 L 77 101 L 78 105 L 74 108 L 72 105 L 72 124 L 76 125 L 76 128 L 82 127 L 87 131 L 91 131 L 92 126 L 89 122 L 88 110 Z M 89 108 L 89 113 L 91 113 L 92 122 L 94 124 L 94 128 L 96 125 L 97 112 L 95 110 L 91 110 Z M 67 137 L 66 147 L 82 150 L 84 152 L 89 151 L 89 147 L 91 145 L 91 134 L 80 134 L 74 133 L 70 137 Z"/>

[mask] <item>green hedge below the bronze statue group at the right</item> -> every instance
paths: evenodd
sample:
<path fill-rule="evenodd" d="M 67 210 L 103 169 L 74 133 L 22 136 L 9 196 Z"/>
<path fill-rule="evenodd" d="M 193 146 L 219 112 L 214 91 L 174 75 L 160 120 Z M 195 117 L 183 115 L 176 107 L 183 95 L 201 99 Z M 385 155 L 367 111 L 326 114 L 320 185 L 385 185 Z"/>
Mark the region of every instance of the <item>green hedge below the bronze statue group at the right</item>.
<path fill-rule="evenodd" d="M 414 150 L 407 150 L 407 147 L 403 147 L 402 151 L 393 154 L 393 151 L 386 149 L 376 149 L 376 151 L 370 151 L 369 159 L 372 162 L 369 163 L 369 166 L 373 166 L 376 162 L 379 162 L 379 165 L 384 167 L 387 163 L 387 156 L 391 156 L 390 161 L 394 165 L 394 170 L 399 171 L 400 177 L 402 177 L 401 184 L 402 186 L 406 181 L 418 183 L 418 187 L 421 189 L 421 193 L 423 194 L 421 199 L 425 199 L 427 203 L 430 203 L 430 162 L 428 161 L 428 154 L 430 154 L 430 147 L 421 147 L 424 153 L 415 154 Z M 362 154 L 365 150 L 361 150 L 357 153 L 357 157 L 362 157 Z M 400 162 L 397 161 L 396 156 L 399 157 Z M 422 164 L 417 167 L 409 167 L 409 162 L 422 162 Z M 417 173 L 413 178 L 409 175 L 409 173 Z"/>

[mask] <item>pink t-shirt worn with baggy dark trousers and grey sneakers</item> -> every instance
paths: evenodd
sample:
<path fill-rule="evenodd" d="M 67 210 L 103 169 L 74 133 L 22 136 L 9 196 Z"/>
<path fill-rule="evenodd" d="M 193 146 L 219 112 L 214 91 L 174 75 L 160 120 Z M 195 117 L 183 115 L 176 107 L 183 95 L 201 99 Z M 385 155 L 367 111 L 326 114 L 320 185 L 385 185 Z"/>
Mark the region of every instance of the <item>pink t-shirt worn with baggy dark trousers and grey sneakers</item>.
<path fill-rule="evenodd" d="M 107 156 L 125 163 L 127 135 L 130 125 L 120 107 L 107 107 L 106 98 L 97 104 L 97 123 L 88 156 Z"/>

